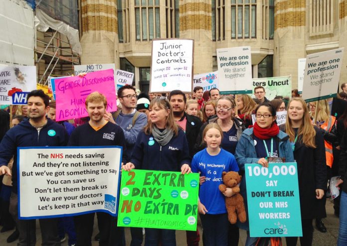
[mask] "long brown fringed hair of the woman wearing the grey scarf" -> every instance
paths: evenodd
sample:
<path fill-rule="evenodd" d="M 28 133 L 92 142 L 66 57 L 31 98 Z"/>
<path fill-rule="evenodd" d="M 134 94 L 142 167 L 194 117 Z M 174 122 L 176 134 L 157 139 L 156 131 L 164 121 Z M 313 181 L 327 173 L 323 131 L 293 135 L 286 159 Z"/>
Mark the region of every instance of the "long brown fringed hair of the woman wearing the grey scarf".
<path fill-rule="evenodd" d="M 170 105 L 169 100 L 164 98 L 164 97 L 152 99 L 151 104 L 150 104 L 150 108 L 149 108 L 150 112 L 155 106 L 158 106 L 160 109 L 170 110 L 169 116 L 168 116 L 166 123 L 165 123 L 165 128 L 172 129 L 174 131 L 174 135 L 177 136 L 178 135 L 178 125 L 174 121 L 173 109 Z M 144 131 L 147 135 L 152 133 L 152 127 L 153 127 L 153 123 L 150 120 L 144 128 Z"/>

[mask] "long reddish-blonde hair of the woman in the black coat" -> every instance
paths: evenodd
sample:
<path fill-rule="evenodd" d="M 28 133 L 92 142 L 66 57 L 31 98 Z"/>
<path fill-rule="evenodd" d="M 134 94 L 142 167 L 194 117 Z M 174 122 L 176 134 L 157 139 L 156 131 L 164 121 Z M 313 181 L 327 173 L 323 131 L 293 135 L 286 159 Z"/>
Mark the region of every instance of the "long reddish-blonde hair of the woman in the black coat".
<path fill-rule="evenodd" d="M 313 124 L 310 119 L 310 114 L 309 110 L 306 106 L 305 101 L 302 98 L 292 98 L 289 101 L 288 104 L 288 111 L 290 108 L 290 104 L 293 102 L 300 102 L 301 106 L 304 109 L 304 116 L 303 116 L 303 123 L 298 129 L 298 139 L 305 144 L 305 146 L 310 147 L 310 148 L 316 148 L 316 142 L 315 142 L 315 137 L 316 137 L 316 130 L 313 127 Z M 289 113 L 287 114 L 287 121 L 286 121 L 286 133 L 289 135 L 289 139 L 291 142 L 294 142 L 295 140 L 295 132 L 292 127 L 292 120 L 289 119 Z M 300 137 L 301 136 L 301 137 Z"/>

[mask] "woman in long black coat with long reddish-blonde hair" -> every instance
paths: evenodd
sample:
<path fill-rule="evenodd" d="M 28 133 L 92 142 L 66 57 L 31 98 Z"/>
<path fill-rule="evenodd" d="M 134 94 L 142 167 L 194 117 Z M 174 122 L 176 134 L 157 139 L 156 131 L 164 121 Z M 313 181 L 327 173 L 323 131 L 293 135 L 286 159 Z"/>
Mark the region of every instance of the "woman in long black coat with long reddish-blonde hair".
<path fill-rule="evenodd" d="M 327 190 L 327 168 L 324 138 L 319 127 L 311 123 L 305 101 L 292 98 L 288 104 L 287 121 L 281 126 L 289 135 L 298 166 L 299 195 L 303 237 L 300 244 L 312 245 L 314 218 L 326 217 L 321 200 Z M 296 246 L 297 237 L 287 237 L 287 246 Z"/>

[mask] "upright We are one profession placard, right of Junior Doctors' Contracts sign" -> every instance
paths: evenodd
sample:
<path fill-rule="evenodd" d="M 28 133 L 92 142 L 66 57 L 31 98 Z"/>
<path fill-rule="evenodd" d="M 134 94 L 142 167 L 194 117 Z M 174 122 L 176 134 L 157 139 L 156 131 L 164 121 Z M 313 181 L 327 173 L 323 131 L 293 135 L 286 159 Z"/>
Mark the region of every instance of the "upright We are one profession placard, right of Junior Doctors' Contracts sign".
<path fill-rule="evenodd" d="M 252 93 L 251 47 L 217 49 L 220 94 Z"/>

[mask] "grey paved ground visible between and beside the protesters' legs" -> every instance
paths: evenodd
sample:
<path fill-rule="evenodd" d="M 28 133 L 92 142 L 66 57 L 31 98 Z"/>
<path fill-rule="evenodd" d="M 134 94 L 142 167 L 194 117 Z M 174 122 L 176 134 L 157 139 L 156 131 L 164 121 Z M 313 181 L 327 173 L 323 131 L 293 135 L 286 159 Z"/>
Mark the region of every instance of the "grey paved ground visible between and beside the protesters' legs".
<path fill-rule="evenodd" d="M 315 229 L 314 231 L 314 236 L 313 236 L 313 246 L 330 246 L 330 245 L 336 245 L 338 234 L 339 234 L 339 218 L 337 218 L 334 215 L 334 209 L 333 209 L 333 203 L 332 200 L 327 200 L 327 215 L 328 217 L 323 219 L 328 232 L 327 233 L 321 233 Z M 96 221 L 96 220 L 95 220 Z M 39 231 L 39 226 L 38 223 L 37 225 L 37 244 L 36 245 L 41 245 L 41 236 L 40 236 L 40 231 Z M 94 228 L 97 228 L 97 224 L 95 223 Z M 199 227 L 200 230 L 200 235 L 201 235 L 201 228 Z M 97 230 L 94 230 L 94 234 L 97 233 Z M 130 245 L 130 230 L 126 229 L 126 242 L 127 246 Z M 1 233 L 0 234 L 0 246 L 16 246 L 17 241 L 11 244 L 6 243 L 7 237 L 12 233 L 6 232 L 6 233 Z M 93 235 L 94 238 L 94 235 Z M 246 233 L 243 230 L 240 230 L 240 241 L 239 241 L 239 246 L 243 246 L 245 244 L 245 239 L 246 239 Z M 184 231 L 176 231 L 176 243 L 177 246 L 184 246 L 185 244 L 185 232 Z M 61 244 L 62 246 L 67 246 L 67 240 Z M 98 246 L 98 242 L 93 241 L 92 246 Z M 200 246 L 202 246 L 202 242 L 200 241 Z M 285 246 L 285 240 L 283 240 L 283 245 Z M 300 245 L 298 241 L 298 245 Z"/>

